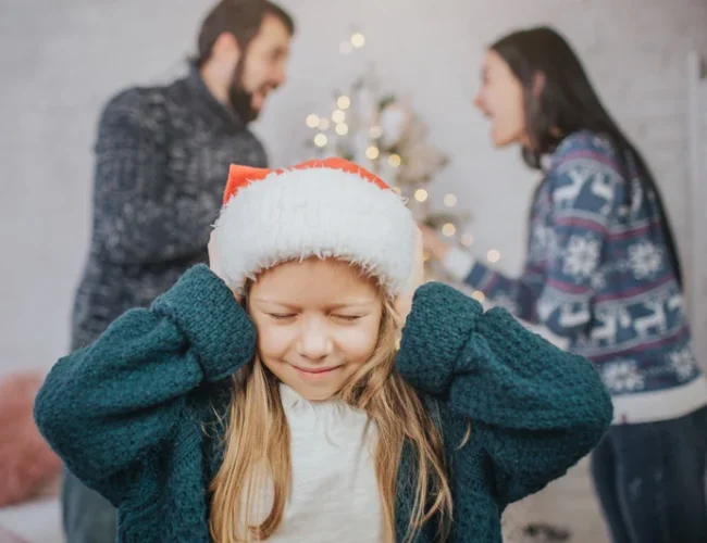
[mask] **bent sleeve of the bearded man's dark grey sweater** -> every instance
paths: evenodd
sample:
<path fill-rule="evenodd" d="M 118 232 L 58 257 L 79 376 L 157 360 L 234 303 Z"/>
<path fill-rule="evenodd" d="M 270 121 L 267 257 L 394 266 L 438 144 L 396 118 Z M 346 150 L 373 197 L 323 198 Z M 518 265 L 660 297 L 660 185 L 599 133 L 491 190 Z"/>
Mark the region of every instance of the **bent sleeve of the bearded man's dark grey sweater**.
<path fill-rule="evenodd" d="M 199 253 L 208 241 L 213 203 L 177 190 L 168 177 L 163 110 L 156 97 L 132 89 L 111 100 L 101 116 L 94 241 L 109 262 L 164 262 Z"/>

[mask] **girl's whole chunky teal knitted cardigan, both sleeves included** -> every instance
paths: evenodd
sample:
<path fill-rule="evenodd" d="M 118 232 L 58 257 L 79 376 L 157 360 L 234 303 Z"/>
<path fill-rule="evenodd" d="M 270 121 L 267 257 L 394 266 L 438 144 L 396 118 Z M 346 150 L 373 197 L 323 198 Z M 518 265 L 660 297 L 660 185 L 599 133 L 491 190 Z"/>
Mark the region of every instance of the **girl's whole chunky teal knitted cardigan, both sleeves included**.
<path fill-rule="evenodd" d="M 210 541 L 208 487 L 222 460 L 216 414 L 227 411 L 226 378 L 255 344 L 247 313 L 198 265 L 149 310 L 128 311 L 52 368 L 35 418 L 69 469 L 119 508 L 119 542 Z M 454 496 L 448 542 L 500 542 L 504 508 L 563 475 L 611 420 L 588 362 L 441 283 L 417 291 L 397 370 L 437 412 Z M 459 447 L 468 421 L 471 439 Z M 399 540 L 414 496 L 411 459 L 404 450 Z M 434 525 L 415 543 L 434 541 Z"/>

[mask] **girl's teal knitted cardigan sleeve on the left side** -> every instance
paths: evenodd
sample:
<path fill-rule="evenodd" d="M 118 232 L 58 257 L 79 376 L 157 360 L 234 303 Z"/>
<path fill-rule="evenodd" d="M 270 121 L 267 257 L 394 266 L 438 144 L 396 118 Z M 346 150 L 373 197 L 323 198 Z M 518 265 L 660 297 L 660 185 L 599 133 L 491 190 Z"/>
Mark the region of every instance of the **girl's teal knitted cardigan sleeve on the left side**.
<path fill-rule="evenodd" d="M 256 331 L 225 283 L 198 265 L 150 310 L 131 310 L 60 359 L 35 403 L 69 469 L 114 504 L 145 455 L 166 446 L 187 397 L 247 364 Z"/>

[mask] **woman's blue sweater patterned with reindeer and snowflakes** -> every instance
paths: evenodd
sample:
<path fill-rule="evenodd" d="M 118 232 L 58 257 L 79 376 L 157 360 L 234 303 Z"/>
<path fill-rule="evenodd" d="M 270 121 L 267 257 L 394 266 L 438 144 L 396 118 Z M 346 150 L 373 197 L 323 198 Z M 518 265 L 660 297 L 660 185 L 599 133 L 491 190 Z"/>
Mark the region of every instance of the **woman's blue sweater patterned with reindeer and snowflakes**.
<path fill-rule="evenodd" d="M 605 139 L 567 137 L 532 205 L 521 277 L 481 262 L 466 277 L 596 363 L 617 422 L 677 418 L 707 404 L 655 194 L 644 193 L 637 176 L 631 168 L 627 180 Z M 455 257 L 448 267 L 459 269 Z"/>

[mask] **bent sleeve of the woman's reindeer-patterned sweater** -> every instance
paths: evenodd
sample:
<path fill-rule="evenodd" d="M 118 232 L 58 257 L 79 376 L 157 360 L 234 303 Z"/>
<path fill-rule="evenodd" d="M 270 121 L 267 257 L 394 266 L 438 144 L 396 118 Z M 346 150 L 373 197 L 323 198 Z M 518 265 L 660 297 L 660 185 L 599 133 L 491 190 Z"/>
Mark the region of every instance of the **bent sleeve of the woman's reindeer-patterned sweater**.
<path fill-rule="evenodd" d="M 597 270 L 605 254 L 611 218 L 623 194 L 623 177 L 615 152 L 587 134 L 568 138 L 548 173 L 551 224 L 533 225 L 545 239 L 543 266 L 528 262 L 519 279 L 507 278 L 477 263 L 466 281 L 491 300 L 507 299 L 512 313 L 541 324 L 562 338 L 574 338 L 591 324 L 591 302 L 603 278 Z"/>

